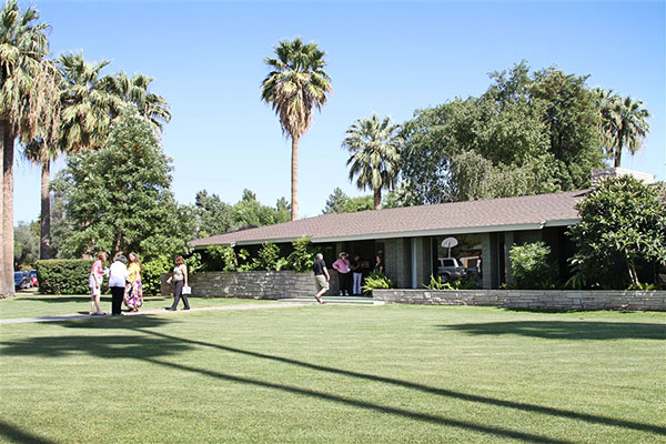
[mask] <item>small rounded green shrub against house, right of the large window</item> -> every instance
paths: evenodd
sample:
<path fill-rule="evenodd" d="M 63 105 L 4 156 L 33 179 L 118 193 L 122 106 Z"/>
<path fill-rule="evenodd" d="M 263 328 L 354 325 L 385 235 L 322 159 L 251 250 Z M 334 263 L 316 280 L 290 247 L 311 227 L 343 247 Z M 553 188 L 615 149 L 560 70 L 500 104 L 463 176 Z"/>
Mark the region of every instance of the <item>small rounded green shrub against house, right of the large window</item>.
<path fill-rule="evenodd" d="M 548 290 L 555 287 L 556 273 L 548 262 L 551 248 L 544 242 L 514 245 L 508 252 L 516 289 Z"/>

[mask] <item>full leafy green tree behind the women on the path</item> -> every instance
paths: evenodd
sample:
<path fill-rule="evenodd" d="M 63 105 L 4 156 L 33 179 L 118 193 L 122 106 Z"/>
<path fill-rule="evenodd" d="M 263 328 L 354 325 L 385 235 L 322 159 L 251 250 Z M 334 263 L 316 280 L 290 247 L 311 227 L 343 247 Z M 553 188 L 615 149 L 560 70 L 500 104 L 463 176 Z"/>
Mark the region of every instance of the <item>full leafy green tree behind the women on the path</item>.
<path fill-rule="evenodd" d="M 71 155 L 53 181 L 67 214 L 61 255 L 135 251 L 147 260 L 185 249 L 193 218 L 173 198 L 171 171 L 150 124 L 125 109 L 108 147 Z"/>

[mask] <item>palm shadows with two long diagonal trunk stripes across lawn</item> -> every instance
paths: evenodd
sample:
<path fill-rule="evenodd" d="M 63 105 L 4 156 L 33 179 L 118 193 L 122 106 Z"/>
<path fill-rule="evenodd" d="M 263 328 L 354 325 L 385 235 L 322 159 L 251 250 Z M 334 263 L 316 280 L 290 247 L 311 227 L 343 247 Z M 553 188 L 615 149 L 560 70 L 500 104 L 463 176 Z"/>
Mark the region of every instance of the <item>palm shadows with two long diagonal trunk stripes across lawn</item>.
<path fill-rule="evenodd" d="M 109 357 L 109 359 L 135 359 L 143 362 L 153 363 L 165 367 L 171 367 L 178 371 L 192 372 L 203 374 L 210 377 L 214 377 L 221 381 L 249 384 L 253 386 L 273 389 L 283 392 L 289 392 L 299 395 L 306 395 L 316 398 L 321 398 L 329 402 L 335 402 L 357 408 L 372 410 L 381 413 L 392 414 L 410 420 L 426 422 L 431 424 L 438 424 L 445 426 L 453 426 L 465 428 L 480 433 L 488 433 L 496 436 L 509 437 L 513 440 L 533 442 L 533 443 L 568 443 L 563 440 L 555 440 L 547 436 L 535 435 L 529 433 L 523 433 L 504 427 L 488 426 L 466 421 L 447 418 L 444 416 L 432 415 L 426 412 L 410 411 L 406 408 L 393 407 L 390 405 L 381 405 L 371 403 L 364 400 L 350 398 L 339 396 L 322 391 L 310 390 L 299 387 L 294 385 L 278 384 L 268 381 L 261 381 L 256 379 L 250 379 L 244 376 L 231 375 L 212 371 L 208 369 L 199 369 L 189 365 L 183 365 L 175 362 L 164 361 L 163 357 L 175 356 L 178 354 L 188 352 L 196 346 L 212 347 L 224 352 L 243 354 L 256 359 L 270 360 L 279 363 L 299 365 L 312 371 L 325 372 L 335 375 L 356 377 L 366 381 L 381 382 L 384 384 L 391 384 L 401 386 L 408 390 L 415 390 L 427 394 L 434 394 L 443 397 L 451 397 L 462 401 L 475 402 L 492 406 L 500 406 L 506 408 L 515 408 L 518 411 L 534 412 L 556 417 L 571 418 L 574 421 L 584 421 L 592 424 L 610 425 L 622 428 L 636 430 L 642 432 L 655 433 L 659 435 L 666 434 L 666 427 L 637 423 L 632 421 L 616 420 L 613 417 L 597 416 L 585 413 L 578 413 L 575 411 L 567 411 L 562 408 L 547 407 L 536 404 L 518 403 L 513 401 L 497 400 L 487 396 L 480 396 L 474 394 L 467 394 L 462 392 L 455 392 L 446 389 L 438 389 L 427 386 L 423 384 L 413 383 L 410 381 L 403 381 L 392 377 L 385 377 L 380 375 L 373 375 L 369 373 L 346 371 L 342 369 L 312 364 L 303 361 L 297 361 L 289 357 L 263 354 L 242 349 L 225 346 L 221 344 L 214 344 L 198 340 L 188 340 L 169 335 L 160 332 L 149 331 L 152 326 L 162 325 L 168 322 L 165 319 L 142 316 L 138 317 L 125 317 L 125 319 L 113 319 L 104 320 L 103 322 L 95 322 L 97 320 L 85 321 L 69 321 L 59 323 L 59 325 L 73 329 L 123 329 L 130 330 L 135 333 L 141 333 L 140 336 L 133 339 L 128 335 L 111 335 L 111 336 L 89 336 L 89 335 L 75 335 L 75 336 L 42 336 L 33 337 L 23 341 L 14 342 L 0 342 L 0 350 L 6 355 L 39 355 L 39 356 L 63 356 L 75 353 L 88 353 L 95 357 Z M 152 337 L 151 337 L 152 336 Z"/>

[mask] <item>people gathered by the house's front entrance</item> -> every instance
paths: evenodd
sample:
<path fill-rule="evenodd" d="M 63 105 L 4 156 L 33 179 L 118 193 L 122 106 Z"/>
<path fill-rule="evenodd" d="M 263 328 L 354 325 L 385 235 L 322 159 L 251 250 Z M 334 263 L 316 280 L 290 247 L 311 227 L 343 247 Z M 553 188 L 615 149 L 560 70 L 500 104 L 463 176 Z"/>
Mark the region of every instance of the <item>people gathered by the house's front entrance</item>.
<path fill-rule="evenodd" d="M 333 262 L 333 269 L 337 272 L 337 283 L 341 296 L 360 295 L 362 294 L 361 284 L 363 283 L 363 261 L 359 254 L 354 255 L 354 259 L 350 261 L 349 254 L 344 251 L 340 253 L 339 259 Z M 373 269 L 374 274 L 384 273 L 384 254 L 379 251 L 375 256 L 375 265 Z M 320 304 L 323 304 L 322 296 L 329 291 L 329 282 L 331 275 L 326 269 L 323 254 L 319 253 L 313 265 L 314 271 L 314 283 L 317 293 L 314 299 Z"/>

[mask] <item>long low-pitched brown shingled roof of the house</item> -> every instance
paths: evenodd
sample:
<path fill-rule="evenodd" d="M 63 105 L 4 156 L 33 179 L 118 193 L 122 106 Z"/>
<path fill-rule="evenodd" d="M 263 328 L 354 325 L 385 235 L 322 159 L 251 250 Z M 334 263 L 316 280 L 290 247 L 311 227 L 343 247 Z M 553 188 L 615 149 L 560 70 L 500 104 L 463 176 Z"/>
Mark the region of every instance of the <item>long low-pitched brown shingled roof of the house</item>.
<path fill-rule="evenodd" d="M 577 223 L 576 202 L 587 191 L 485 201 L 405 206 L 357 213 L 333 213 L 252 230 L 219 234 L 190 242 L 203 248 L 219 244 L 291 242 L 307 235 L 313 242 L 406 238 L 538 230 Z"/>

